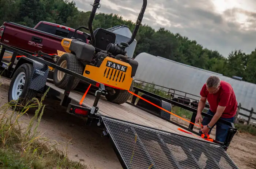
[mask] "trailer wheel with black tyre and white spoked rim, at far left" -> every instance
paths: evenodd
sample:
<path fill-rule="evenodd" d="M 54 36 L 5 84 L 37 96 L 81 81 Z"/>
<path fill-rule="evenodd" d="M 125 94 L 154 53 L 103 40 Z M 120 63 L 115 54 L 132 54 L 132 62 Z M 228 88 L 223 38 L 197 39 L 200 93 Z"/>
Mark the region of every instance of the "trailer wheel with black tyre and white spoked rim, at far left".
<path fill-rule="evenodd" d="M 22 110 L 32 98 L 37 96 L 37 91 L 28 89 L 30 79 L 33 76 L 32 70 L 31 64 L 24 63 L 15 71 L 12 77 L 8 91 L 8 102 L 12 105 L 12 108 L 17 103 L 15 110 Z"/>

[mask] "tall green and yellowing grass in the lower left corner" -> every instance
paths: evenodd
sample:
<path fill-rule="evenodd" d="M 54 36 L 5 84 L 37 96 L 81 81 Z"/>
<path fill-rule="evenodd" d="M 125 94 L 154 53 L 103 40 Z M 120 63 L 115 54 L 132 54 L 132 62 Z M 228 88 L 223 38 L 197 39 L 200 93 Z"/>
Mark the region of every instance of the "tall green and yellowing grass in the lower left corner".
<path fill-rule="evenodd" d="M 33 98 L 20 112 L 11 109 L 20 106 L 17 102 L 6 103 L 0 107 L 0 168 L 87 168 L 80 162 L 68 159 L 67 147 L 62 152 L 56 148 L 57 143 L 50 145 L 49 139 L 39 135 L 37 128 L 44 113 L 45 105 L 42 101 L 46 93 L 40 101 Z M 26 127 L 22 127 L 21 118 L 32 108 L 36 109 L 34 116 Z"/>

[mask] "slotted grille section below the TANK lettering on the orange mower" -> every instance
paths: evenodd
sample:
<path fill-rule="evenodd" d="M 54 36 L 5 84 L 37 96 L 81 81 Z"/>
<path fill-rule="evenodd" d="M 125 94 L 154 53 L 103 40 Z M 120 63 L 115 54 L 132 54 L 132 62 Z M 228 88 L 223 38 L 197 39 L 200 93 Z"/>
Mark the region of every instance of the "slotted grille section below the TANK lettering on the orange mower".
<path fill-rule="evenodd" d="M 115 82 L 124 82 L 125 73 L 113 68 L 106 68 L 104 77 Z"/>

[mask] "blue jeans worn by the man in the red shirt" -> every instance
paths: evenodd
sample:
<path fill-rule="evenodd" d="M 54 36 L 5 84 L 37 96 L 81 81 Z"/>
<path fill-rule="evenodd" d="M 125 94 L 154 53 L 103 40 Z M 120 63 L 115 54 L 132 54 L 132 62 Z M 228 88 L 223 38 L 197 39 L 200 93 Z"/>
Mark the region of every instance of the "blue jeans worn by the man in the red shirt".
<path fill-rule="evenodd" d="M 214 115 L 214 113 L 212 113 L 212 111 L 210 109 L 207 111 L 207 114 L 210 114 L 212 116 Z M 231 117 L 231 118 L 222 118 L 221 117 L 220 119 L 226 120 L 226 121 L 231 122 L 231 123 L 234 122 L 234 117 Z M 210 121 L 211 121 L 211 118 L 204 117 L 203 121 L 202 121 L 202 125 L 206 126 L 206 125 L 208 125 L 208 123 L 210 123 Z M 225 139 L 226 139 L 226 136 L 227 136 L 227 132 L 229 131 L 229 126 L 226 125 L 226 124 L 223 124 L 223 123 L 219 123 L 219 122 L 215 123 L 214 126 L 215 125 L 216 125 L 216 138 L 215 138 L 215 140 L 220 141 L 220 142 L 224 142 Z M 212 128 L 214 126 L 212 126 Z M 208 134 L 211 133 L 212 128 L 210 129 Z M 199 130 L 199 133 L 202 134 L 202 131 Z"/>

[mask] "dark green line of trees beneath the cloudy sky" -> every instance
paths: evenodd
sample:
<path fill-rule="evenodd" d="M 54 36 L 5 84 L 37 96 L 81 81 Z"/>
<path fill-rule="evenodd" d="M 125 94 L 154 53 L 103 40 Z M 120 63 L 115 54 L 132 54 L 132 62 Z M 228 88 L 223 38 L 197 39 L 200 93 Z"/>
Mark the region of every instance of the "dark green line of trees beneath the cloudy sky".
<path fill-rule="evenodd" d="M 12 21 L 32 28 L 41 20 L 76 28 L 88 25 L 90 11 L 79 11 L 72 0 L 0 0 L 0 16 L 1 23 Z M 135 27 L 135 23 L 124 20 L 122 16 L 97 13 L 93 28 L 106 29 L 120 24 L 127 25 L 131 31 Z M 165 28 L 154 30 L 145 24 L 139 28 L 136 40 L 134 56 L 147 52 L 225 76 L 240 76 L 244 81 L 256 83 L 256 48 L 251 54 L 234 50 L 224 57 L 218 51 L 204 48 L 186 36 L 174 34 Z"/>

